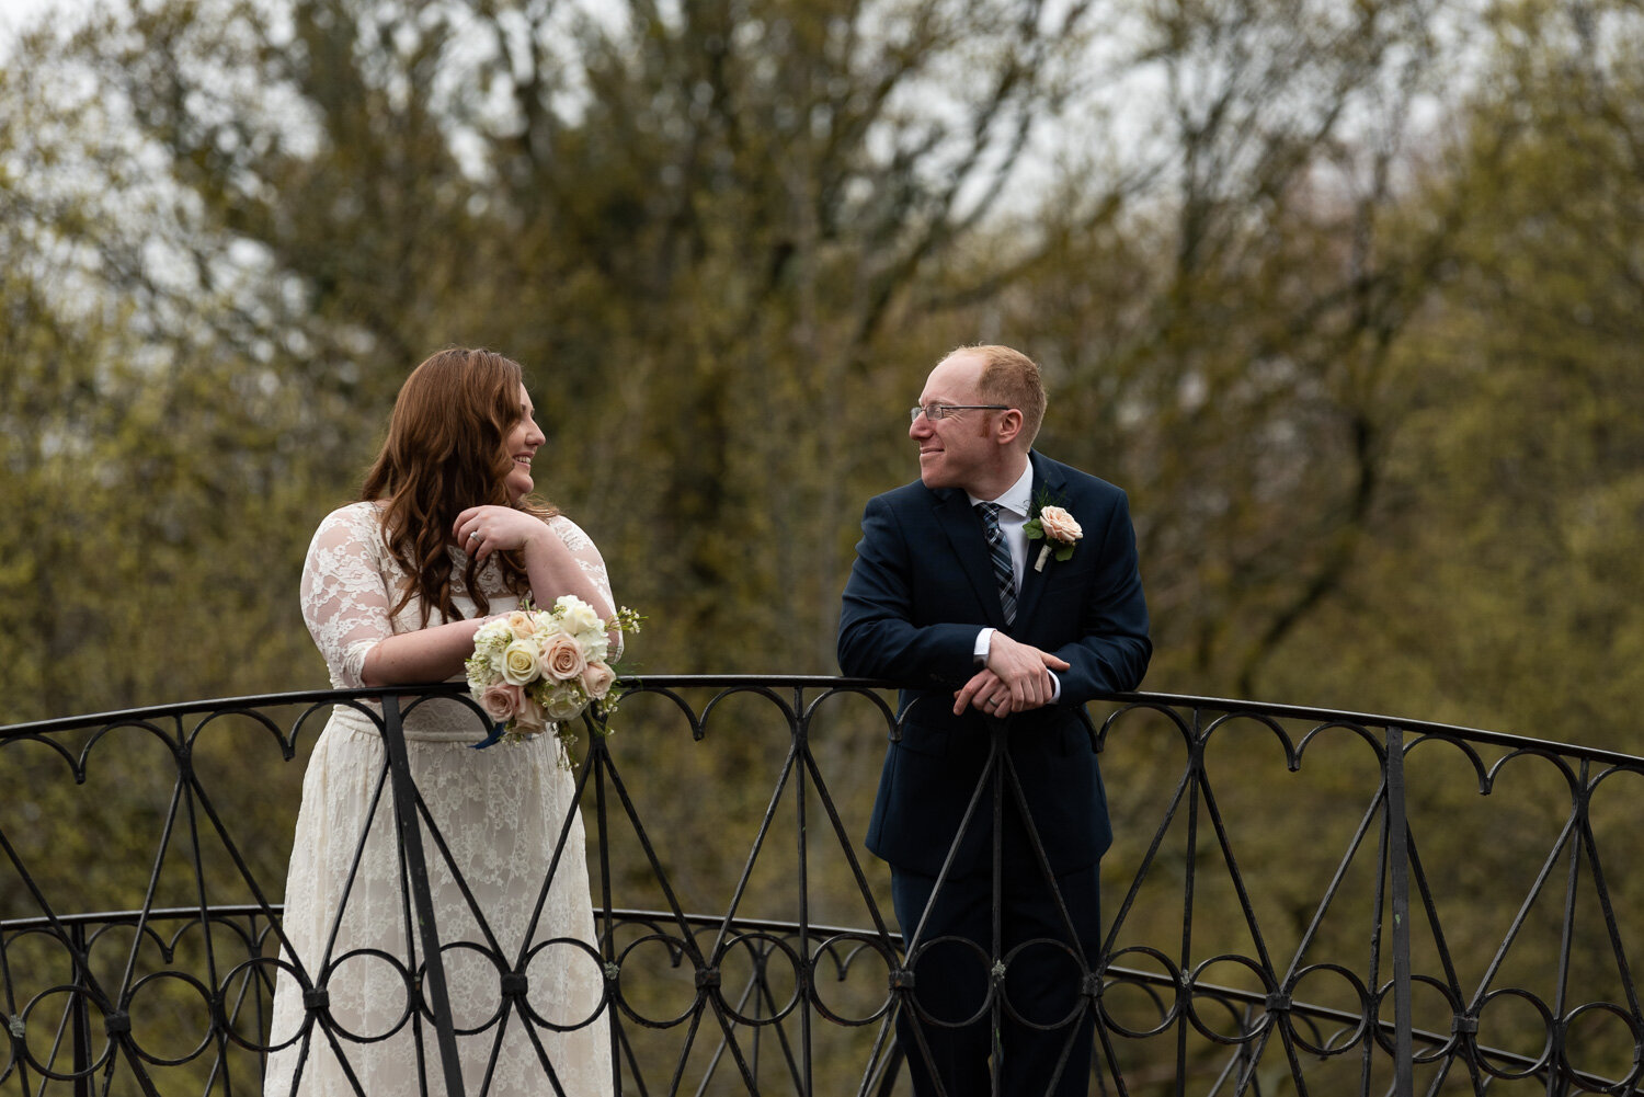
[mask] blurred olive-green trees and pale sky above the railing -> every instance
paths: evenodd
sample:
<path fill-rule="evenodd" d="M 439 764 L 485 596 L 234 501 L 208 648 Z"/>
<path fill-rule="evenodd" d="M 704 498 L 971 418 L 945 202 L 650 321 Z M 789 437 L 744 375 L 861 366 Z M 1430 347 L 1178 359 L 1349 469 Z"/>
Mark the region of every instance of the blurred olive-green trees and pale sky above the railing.
<path fill-rule="evenodd" d="M 307 536 L 446 344 L 648 671 L 830 673 L 947 349 L 1133 495 L 1148 687 L 1631 748 L 1623 0 L 130 0 L 0 76 L 13 719 L 322 684 Z"/>

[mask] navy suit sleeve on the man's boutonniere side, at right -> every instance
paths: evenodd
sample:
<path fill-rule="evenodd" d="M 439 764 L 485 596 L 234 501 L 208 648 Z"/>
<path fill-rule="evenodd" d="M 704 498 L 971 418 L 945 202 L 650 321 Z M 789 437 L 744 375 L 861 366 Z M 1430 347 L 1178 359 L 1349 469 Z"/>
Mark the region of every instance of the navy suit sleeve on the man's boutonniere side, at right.
<path fill-rule="evenodd" d="M 1055 651 L 1070 663 L 1060 673 L 1062 704 L 1083 704 L 1097 694 L 1136 689 L 1152 658 L 1136 530 L 1123 492 L 1106 525 L 1092 533 L 1097 535 L 1090 538 L 1090 548 L 1098 549 L 1097 574 L 1080 610 L 1080 636 Z"/>

